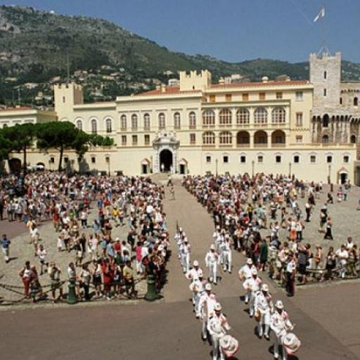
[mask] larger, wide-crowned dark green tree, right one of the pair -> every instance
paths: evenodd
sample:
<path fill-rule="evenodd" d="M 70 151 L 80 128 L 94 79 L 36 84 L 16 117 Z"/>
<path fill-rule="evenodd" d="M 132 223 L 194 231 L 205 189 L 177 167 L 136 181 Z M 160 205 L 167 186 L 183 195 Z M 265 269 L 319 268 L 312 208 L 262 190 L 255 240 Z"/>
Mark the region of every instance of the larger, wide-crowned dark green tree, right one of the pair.
<path fill-rule="evenodd" d="M 47 152 L 55 148 L 60 153 L 58 170 L 63 165 L 63 154 L 65 150 L 75 150 L 80 156 L 87 151 L 89 136 L 75 127 L 71 122 L 47 122 L 41 124 L 38 131 L 37 147 Z"/>

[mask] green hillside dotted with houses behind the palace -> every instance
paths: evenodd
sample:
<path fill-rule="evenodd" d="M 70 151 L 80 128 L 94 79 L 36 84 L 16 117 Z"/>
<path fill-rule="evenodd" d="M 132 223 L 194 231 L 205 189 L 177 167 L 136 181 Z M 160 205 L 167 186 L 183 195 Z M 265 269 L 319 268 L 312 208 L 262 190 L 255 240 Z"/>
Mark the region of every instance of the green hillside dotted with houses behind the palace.
<path fill-rule="evenodd" d="M 210 56 L 188 56 L 105 20 L 0 6 L 0 103 L 21 96 L 23 102 L 50 104 L 51 82 L 66 78 L 68 63 L 72 79 L 84 84 L 86 101 L 151 89 L 176 77 L 179 70 L 207 68 L 214 79 L 233 73 L 250 80 L 283 74 L 308 77 L 307 63 L 264 59 L 226 63 Z M 360 79 L 359 64 L 344 65 L 343 79 Z"/>

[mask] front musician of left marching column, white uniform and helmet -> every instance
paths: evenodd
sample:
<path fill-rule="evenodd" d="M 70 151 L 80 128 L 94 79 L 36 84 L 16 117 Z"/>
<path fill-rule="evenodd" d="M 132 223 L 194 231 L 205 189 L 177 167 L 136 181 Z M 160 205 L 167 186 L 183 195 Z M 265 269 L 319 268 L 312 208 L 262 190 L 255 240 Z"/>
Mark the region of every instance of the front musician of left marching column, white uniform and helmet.
<path fill-rule="evenodd" d="M 224 353 L 219 345 L 220 339 L 230 330 L 226 316 L 221 312 L 221 304 L 217 302 L 214 305 L 214 314 L 207 323 L 207 330 L 212 338 L 212 360 L 225 360 Z"/>

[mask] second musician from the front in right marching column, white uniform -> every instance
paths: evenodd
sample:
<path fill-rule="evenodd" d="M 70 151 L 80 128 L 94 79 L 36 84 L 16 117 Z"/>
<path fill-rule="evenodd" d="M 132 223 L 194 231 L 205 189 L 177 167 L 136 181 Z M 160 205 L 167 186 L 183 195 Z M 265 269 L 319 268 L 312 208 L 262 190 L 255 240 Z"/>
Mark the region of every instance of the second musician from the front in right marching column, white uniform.
<path fill-rule="evenodd" d="M 264 333 L 264 338 L 270 340 L 270 314 L 273 310 L 274 305 L 271 301 L 269 286 L 262 284 L 261 290 L 258 291 L 255 296 L 255 314 L 259 314 L 259 323 L 257 324 L 257 334 L 259 335 L 259 338 L 262 338 Z M 265 326 L 265 330 L 263 329 L 263 326 Z"/>

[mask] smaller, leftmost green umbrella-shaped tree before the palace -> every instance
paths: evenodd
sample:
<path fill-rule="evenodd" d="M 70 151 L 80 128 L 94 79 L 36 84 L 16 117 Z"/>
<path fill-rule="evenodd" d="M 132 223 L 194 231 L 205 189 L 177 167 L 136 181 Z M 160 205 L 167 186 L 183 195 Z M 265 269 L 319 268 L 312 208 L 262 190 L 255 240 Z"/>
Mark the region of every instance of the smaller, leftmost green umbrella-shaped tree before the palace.
<path fill-rule="evenodd" d="M 23 153 L 23 171 L 26 173 L 27 148 L 34 144 L 39 125 L 16 124 L 15 127 L 6 127 L 2 130 L 4 138 L 10 141 L 12 151 Z"/>

